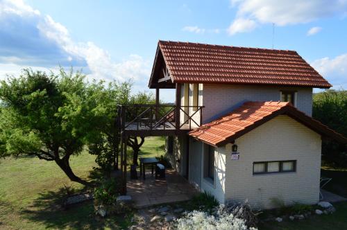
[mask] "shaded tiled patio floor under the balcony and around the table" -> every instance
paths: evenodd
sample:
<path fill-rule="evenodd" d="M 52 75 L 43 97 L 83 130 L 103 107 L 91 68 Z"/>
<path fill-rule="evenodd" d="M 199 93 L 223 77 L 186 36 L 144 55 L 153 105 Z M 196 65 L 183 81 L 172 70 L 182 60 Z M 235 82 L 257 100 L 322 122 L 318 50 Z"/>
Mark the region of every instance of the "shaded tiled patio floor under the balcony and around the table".
<path fill-rule="evenodd" d="M 137 173 L 139 174 L 139 172 Z M 146 173 L 146 179 L 128 179 L 127 195 L 130 195 L 137 208 L 182 202 L 189 200 L 198 191 L 187 182 L 187 179 L 177 174 L 175 170 L 167 169 L 164 179 L 155 179 L 151 172 Z"/>

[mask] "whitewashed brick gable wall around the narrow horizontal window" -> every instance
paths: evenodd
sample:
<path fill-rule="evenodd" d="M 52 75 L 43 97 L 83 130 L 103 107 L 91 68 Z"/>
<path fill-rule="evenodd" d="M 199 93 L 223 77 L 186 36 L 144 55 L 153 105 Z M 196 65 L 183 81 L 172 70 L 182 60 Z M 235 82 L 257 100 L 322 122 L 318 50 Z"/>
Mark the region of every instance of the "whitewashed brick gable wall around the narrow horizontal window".
<path fill-rule="evenodd" d="M 231 144 L 218 148 L 226 156 L 226 200 L 248 200 L 272 208 L 271 199 L 285 204 L 319 201 L 321 136 L 288 116 L 273 118 L 235 141 L 239 160 L 230 159 Z M 296 160 L 296 172 L 253 175 L 254 161 Z"/>

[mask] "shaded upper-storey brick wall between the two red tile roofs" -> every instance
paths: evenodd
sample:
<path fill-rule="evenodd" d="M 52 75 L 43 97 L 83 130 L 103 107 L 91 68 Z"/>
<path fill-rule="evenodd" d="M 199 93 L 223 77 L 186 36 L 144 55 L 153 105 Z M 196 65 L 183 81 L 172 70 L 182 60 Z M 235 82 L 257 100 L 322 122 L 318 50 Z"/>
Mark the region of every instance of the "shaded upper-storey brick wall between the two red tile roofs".
<path fill-rule="evenodd" d="M 297 91 L 296 107 L 312 116 L 312 88 L 204 84 L 203 123 L 219 118 L 248 100 L 278 101 L 281 90 Z"/>

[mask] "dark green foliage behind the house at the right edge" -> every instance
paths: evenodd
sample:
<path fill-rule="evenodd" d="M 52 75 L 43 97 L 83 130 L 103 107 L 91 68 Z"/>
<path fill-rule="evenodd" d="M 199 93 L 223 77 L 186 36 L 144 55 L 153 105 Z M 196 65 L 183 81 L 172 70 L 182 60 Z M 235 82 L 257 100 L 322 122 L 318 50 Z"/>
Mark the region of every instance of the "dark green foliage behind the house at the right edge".
<path fill-rule="evenodd" d="M 347 136 L 347 91 L 326 90 L 313 97 L 313 118 Z M 335 166 L 347 166 L 347 145 L 323 140 L 323 160 Z"/>

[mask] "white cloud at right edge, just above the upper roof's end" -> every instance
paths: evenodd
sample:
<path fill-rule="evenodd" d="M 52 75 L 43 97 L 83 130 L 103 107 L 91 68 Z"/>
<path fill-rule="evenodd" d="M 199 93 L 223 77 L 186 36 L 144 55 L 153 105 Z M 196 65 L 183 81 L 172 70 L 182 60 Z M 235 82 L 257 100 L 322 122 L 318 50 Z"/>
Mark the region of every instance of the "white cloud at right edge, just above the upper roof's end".
<path fill-rule="evenodd" d="M 335 89 L 347 89 L 347 53 L 337 57 L 323 57 L 311 63 L 323 78 L 327 79 Z"/>

